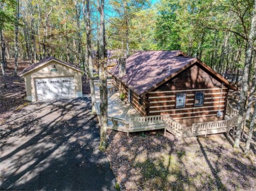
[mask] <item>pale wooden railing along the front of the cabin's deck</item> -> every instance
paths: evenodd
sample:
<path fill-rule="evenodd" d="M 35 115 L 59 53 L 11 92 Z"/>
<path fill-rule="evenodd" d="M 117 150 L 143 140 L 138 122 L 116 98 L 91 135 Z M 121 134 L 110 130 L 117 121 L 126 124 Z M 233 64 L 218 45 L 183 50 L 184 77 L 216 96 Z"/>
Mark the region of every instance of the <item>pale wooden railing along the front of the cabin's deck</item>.
<path fill-rule="evenodd" d="M 99 113 L 99 107 L 96 104 L 96 111 Z M 176 137 L 194 137 L 199 135 L 209 135 L 216 133 L 224 133 L 233 130 L 237 125 L 238 120 L 238 110 L 231 107 L 228 103 L 226 113 L 228 114 L 228 119 L 214 121 L 214 122 L 204 122 L 198 124 L 192 124 L 191 127 L 182 126 L 179 122 L 176 122 L 169 115 L 156 115 L 156 116 L 143 116 L 129 118 L 116 118 L 108 117 L 108 120 L 112 122 L 109 129 L 122 131 L 127 133 L 137 132 L 137 131 L 150 131 L 150 130 L 164 130 L 164 135 L 166 131 L 172 133 Z"/>

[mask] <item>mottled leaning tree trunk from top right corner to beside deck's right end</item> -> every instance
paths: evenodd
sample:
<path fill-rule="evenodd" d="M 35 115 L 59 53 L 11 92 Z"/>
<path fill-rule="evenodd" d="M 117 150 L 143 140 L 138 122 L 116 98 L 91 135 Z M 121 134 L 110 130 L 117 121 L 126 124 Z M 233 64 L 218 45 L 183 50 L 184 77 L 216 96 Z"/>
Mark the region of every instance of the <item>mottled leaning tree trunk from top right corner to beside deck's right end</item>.
<path fill-rule="evenodd" d="M 245 99 L 247 95 L 248 90 L 248 79 L 249 79 L 249 68 L 251 66 L 251 57 L 252 57 L 252 51 L 253 51 L 253 42 L 255 40 L 256 36 L 256 0 L 254 0 L 253 5 L 253 18 L 251 19 L 251 31 L 249 33 L 248 43 L 247 43 L 247 51 L 245 54 L 245 64 L 244 64 L 244 77 L 242 80 L 242 90 L 240 94 L 240 109 L 239 109 L 239 116 L 238 116 L 238 127 L 236 130 L 236 139 L 234 143 L 234 147 L 238 148 L 240 143 L 240 135 L 242 130 L 242 122 L 243 117 L 245 114 Z"/>

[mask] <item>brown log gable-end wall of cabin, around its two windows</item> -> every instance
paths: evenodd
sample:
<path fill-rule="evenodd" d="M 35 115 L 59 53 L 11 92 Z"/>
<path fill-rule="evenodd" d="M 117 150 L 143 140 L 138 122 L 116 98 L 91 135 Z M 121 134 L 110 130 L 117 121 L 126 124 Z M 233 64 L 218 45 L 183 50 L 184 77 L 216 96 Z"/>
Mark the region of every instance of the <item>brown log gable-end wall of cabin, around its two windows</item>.
<path fill-rule="evenodd" d="M 223 86 L 222 94 L 221 86 Z M 194 106 L 196 92 L 204 93 L 202 106 Z M 179 93 L 186 93 L 186 105 L 183 108 L 176 108 L 176 94 Z M 219 109 L 223 113 L 226 111 L 228 88 L 208 71 L 195 64 L 146 96 L 150 100 L 150 116 L 169 114 L 177 121 L 184 120 L 188 125 L 188 120 L 197 122 L 202 120 L 202 117 L 223 120 L 224 114 L 217 118 L 217 111 Z"/>

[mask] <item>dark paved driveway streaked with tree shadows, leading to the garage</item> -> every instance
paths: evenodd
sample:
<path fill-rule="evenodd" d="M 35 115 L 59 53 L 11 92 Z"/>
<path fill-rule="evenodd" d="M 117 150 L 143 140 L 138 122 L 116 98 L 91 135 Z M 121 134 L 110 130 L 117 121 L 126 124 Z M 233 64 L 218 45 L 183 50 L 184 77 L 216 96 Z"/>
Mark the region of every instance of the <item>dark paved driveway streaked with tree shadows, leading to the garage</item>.
<path fill-rule="evenodd" d="M 0 126 L 0 190 L 113 190 L 90 99 L 32 103 Z"/>

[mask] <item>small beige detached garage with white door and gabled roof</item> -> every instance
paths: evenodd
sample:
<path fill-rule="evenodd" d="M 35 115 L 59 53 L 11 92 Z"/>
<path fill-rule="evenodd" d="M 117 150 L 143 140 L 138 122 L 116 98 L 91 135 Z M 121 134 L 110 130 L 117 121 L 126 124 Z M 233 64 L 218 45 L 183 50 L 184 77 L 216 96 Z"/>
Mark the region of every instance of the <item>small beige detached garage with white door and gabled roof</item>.
<path fill-rule="evenodd" d="M 82 97 L 83 71 L 53 57 L 24 69 L 28 101 Z"/>

